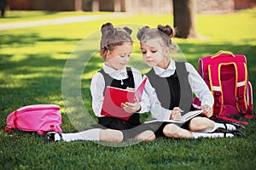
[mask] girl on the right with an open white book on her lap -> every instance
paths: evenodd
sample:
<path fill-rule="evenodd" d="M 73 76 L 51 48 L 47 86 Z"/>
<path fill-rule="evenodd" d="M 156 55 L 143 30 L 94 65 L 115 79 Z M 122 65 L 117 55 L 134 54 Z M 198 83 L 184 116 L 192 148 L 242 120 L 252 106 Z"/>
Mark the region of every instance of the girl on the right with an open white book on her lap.
<path fill-rule="evenodd" d="M 193 111 L 192 92 L 201 99 L 203 116 L 196 116 L 182 126 L 162 123 L 155 133 L 168 138 L 234 137 L 244 136 L 232 124 L 217 123 L 212 116 L 213 97 L 207 84 L 187 62 L 177 62 L 169 57 L 177 46 L 172 42 L 175 31 L 171 26 L 149 28 L 137 32 L 145 63 L 152 66 L 146 77 L 145 91 L 150 99 L 150 111 L 155 119 L 177 119 L 184 112 Z M 172 110 L 172 111 L 169 111 Z"/>

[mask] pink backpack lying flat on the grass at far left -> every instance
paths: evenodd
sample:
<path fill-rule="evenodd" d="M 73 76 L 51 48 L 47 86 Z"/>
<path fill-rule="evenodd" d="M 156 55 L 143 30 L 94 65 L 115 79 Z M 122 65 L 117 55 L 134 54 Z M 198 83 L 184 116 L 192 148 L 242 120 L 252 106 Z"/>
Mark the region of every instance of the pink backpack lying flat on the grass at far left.
<path fill-rule="evenodd" d="M 49 131 L 62 133 L 59 105 L 27 105 L 10 113 L 6 122 L 6 132 L 13 128 L 38 134 Z"/>

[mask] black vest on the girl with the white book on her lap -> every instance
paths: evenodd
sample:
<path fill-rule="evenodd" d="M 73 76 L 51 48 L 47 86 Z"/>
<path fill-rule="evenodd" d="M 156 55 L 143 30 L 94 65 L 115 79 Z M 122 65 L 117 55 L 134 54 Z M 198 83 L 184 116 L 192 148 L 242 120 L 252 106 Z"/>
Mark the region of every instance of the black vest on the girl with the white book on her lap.
<path fill-rule="evenodd" d="M 193 111 L 192 90 L 189 85 L 189 72 L 184 62 L 175 62 L 176 71 L 171 77 L 159 77 L 151 69 L 146 74 L 155 89 L 160 105 L 168 110 L 179 107 L 183 111 Z"/>

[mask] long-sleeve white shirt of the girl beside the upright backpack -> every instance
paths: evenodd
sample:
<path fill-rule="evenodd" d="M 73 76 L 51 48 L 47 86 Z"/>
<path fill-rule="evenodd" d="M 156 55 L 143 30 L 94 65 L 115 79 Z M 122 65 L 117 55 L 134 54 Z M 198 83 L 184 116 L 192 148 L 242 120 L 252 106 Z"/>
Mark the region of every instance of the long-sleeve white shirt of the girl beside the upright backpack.
<path fill-rule="evenodd" d="M 170 59 L 171 63 L 167 69 L 162 69 L 158 66 L 154 66 L 155 74 L 159 77 L 171 77 L 176 70 L 175 61 Z M 189 84 L 192 89 L 192 92 L 195 96 L 200 99 L 201 105 L 209 105 L 212 107 L 214 99 L 212 93 L 207 87 L 207 83 L 201 78 L 198 72 L 195 70 L 194 66 L 185 63 L 186 69 L 189 72 Z M 146 77 L 146 76 L 145 76 Z M 165 90 L 165 89 L 163 89 Z M 166 110 L 160 106 L 160 101 L 157 98 L 155 89 L 152 87 L 149 81 L 146 82 L 145 91 L 148 94 L 148 99 L 150 102 L 150 112 L 152 117 L 159 120 L 170 119 L 172 111 Z"/>

